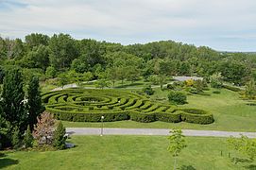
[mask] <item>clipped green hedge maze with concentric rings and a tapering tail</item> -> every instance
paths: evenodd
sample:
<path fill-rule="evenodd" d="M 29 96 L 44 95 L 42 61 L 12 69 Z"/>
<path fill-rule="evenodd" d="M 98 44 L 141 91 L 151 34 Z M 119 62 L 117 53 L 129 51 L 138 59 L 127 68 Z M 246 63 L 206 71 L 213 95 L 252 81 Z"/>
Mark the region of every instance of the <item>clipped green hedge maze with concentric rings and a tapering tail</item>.
<path fill-rule="evenodd" d="M 104 116 L 105 122 L 213 123 L 213 114 L 205 110 L 174 108 L 152 102 L 143 95 L 120 90 L 68 89 L 43 93 L 42 100 L 47 111 L 65 121 L 99 122 Z"/>

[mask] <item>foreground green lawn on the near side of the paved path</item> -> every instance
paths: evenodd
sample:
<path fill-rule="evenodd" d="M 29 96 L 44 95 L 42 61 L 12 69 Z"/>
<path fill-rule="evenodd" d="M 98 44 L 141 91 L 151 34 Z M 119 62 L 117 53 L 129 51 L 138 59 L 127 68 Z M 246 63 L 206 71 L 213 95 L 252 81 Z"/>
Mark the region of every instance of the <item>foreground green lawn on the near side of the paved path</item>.
<path fill-rule="evenodd" d="M 256 162 L 234 165 L 225 138 L 186 137 L 178 165 L 184 169 L 255 169 Z M 164 136 L 73 136 L 77 147 L 62 151 L 6 152 L 0 169 L 172 169 Z M 223 156 L 221 156 L 223 151 Z M 231 156 L 232 152 L 231 152 Z M 29 159 L 28 159 L 29 158 Z M 243 158 L 243 157 L 242 157 Z M 185 168 L 186 167 L 186 168 Z"/>

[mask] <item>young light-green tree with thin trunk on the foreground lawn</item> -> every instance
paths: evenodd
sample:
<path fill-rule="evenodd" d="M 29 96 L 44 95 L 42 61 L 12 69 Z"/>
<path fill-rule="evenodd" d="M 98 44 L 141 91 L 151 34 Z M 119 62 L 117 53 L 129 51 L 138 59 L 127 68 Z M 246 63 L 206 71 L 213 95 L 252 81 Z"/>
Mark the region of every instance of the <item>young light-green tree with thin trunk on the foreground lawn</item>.
<path fill-rule="evenodd" d="M 168 137 L 169 146 L 167 150 L 174 157 L 174 170 L 177 169 L 177 159 L 179 157 L 179 153 L 183 148 L 187 145 L 185 144 L 184 135 L 182 135 L 181 129 L 173 129 L 170 131 L 171 135 Z"/>

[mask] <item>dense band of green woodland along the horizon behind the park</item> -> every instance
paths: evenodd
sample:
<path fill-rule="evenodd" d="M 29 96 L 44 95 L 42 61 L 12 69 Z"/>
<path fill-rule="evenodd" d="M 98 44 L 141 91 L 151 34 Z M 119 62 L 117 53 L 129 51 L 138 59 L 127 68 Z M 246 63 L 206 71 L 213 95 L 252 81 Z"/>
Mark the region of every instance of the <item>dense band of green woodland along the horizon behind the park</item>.
<path fill-rule="evenodd" d="M 208 77 L 221 73 L 224 80 L 243 85 L 256 75 L 253 53 L 217 52 L 172 41 L 122 45 L 75 40 L 62 33 L 52 37 L 32 33 L 25 42 L 0 38 L 0 63 L 0 79 L 11 65 L 23 68 L 25 77 L 36 74 L 43 80 L 60 73 L 77 73 L 107 78 L 113 84 L 142 76 L 147 80 L 151 76 Z"/>

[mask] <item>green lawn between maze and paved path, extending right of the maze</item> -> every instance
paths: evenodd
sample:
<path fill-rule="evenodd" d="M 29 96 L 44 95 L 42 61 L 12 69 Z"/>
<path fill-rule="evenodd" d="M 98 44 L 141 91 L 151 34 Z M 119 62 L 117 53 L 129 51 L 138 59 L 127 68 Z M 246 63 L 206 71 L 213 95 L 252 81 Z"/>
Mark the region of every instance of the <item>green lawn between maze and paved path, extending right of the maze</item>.
<path fill-rule="evenodd" d="M 151 99 L 166 99 L 168 91 L 156 90 Z M 211 125 L 196 125 L 189 123 L 138 123 L 133 121 L 106 122 L 104 127 L 136 127 L 136 128 L 193 128 L 193 129 L 215 129 L 228 131 L 256 131 L 256 107 L 248 106 L 247 101 L 239 98 L 238 93 L 222 89 L 220 94 L 213 91 L 207 92 L 211 95 L 188 95 L 188 104 L 179 106 L 183 108 L 196 108 L 209 110 L 213 113 L 215 122 Z M 163 103 L 166 100 L 162 100 Z M 66 127 L 100 127 L 100 123 L 63 122 Z"/>

